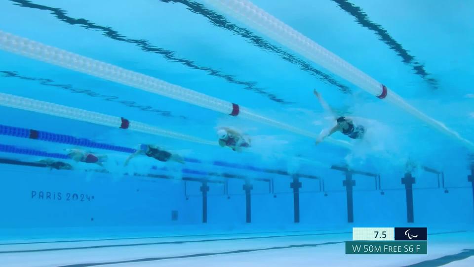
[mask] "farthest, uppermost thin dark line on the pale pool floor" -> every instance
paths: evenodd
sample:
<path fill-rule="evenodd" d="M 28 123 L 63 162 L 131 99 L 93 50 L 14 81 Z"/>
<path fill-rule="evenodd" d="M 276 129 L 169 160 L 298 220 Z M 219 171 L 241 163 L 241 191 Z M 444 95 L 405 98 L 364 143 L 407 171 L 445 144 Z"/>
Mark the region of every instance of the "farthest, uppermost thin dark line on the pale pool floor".
<path fill-rule="evenodd" d="M 319 230 L 319 231 L 327 231 L 327 230 Z M 103 238 L 103 239 L 56 240 L 56 241 L 0 243 L 0 246 L 1 245 L 29 245 L 29 244 L 47 244 L 47 243 L 73 243 L 73 242 L 111 241 L 111 240 L 175 238 L 175 237 L 223 236 L 223 235 L 243 235 L 243 234 L 304 233 L 304 232 L 316 232 L 316 231 L 272 231 L 272 232 L 217 233 L 217 234 L 191 234 L 191 235 L 188 234 L 188 235 L 169 235 L 169 236 L 117 237 L 117 238 Z"/>

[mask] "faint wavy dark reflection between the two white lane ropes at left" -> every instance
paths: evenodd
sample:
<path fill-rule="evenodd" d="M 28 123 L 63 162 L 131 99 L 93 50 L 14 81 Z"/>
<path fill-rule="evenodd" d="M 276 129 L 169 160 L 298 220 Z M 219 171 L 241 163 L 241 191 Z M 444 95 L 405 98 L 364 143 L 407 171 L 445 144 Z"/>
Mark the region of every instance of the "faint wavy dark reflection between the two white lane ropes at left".
<path fill-rule="evenodd" d="M 90 97 L 98 97 L 102 100 L 109 101 L 109 102 L 117 102 L 127 107 L 136 108 L 138 110 L 158 113 L 159 115 L 163 117 L 179 117 L 182 119 L 187 119 L 187 117 L 185 116 L 175 116 L 175 115 L 172 115 L 170 111 L 156 109 L 152 106 L 140 105 L 135 101 L 120 100 L 118 96 L 115 96 L 115 95 L 104 95 L 104 94 L 100 94 L 98 92 L 92 91 L 90 89 L 80 89 L 80 88 L 75 88 L 72 85 L 57 84 L 54 80 L 51 80 L 51 79 L 21 76 L 18 74 L 17 71 L 0 71 L 0 74 L 2 75 L 2 77 L 18 78 L 18 79 L 27 80 L 27 81 L 35 81 L 35 82 L 39 82 L 43 86 L 60 88 L 60 89 L 68 90 L 73 93 L 85 94 Z"/>

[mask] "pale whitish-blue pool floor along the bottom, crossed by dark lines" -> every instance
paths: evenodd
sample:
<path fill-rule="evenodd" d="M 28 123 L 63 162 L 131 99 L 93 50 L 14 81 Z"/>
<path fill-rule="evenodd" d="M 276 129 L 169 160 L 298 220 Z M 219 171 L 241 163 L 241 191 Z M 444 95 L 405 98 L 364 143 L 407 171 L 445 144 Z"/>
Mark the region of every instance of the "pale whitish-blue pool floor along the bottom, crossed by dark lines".
<path fill-rule="evenodd" d="M 474 266 L 474 232 L 431 231 L 427 255 L 346 255 L 351 229 L 9 240 L 8 267 Z"/>

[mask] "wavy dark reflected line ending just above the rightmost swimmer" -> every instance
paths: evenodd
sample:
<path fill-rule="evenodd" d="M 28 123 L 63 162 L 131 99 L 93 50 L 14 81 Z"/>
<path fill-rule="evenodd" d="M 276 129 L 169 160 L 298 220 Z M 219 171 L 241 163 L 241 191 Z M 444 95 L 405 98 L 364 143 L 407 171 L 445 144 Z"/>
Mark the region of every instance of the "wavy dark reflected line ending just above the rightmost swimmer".
<path fill-rule="evenodd" d="M 217 26 L 222 29 L 226 29 L 231 31 L 238 36 L 244 38 L 248 43 L 255 45 L 265 51 L 276 53 L 280 58 L 286 60 L 292 64 L 299 66 L 299 68 L 309 74 L 316 76 L 319 80 L 323 81 L 324 83 L 336 86 L 339 90 L 344 93 L 351 93 L 351 89 L 343 84 L 338 83 L 334 78 L 330 75 L 314 68 L 309 62 L 293 55 L 281 47 L 276 45 L 272 45 L 269 42 L 265 41 L 265 39 L 255 35 L 250 30 L 246 28 L 242 28 L 237 26 L 236 24 L 232 24 L 225 16 L 220 15 L 208 8 L 204 5 L 189 0 L 160 0 L 162 2 L 174 2 L 174 3 L 182 3 L 187 6 L 187 9 L 193 13 L 202 15 L 206 17 L 210 23 L 214 26 Z"/>

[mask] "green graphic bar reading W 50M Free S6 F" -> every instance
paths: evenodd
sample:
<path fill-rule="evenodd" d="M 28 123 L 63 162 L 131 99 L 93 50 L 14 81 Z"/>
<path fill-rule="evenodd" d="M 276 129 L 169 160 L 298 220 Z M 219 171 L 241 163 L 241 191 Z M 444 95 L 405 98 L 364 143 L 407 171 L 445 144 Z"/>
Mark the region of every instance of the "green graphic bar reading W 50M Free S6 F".
<path fill-rule="evenodd" d="M 346 254 L 426 253 L 426 241 L 346 241 Z"/>

